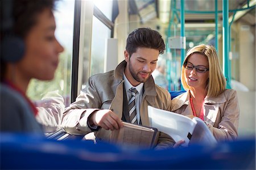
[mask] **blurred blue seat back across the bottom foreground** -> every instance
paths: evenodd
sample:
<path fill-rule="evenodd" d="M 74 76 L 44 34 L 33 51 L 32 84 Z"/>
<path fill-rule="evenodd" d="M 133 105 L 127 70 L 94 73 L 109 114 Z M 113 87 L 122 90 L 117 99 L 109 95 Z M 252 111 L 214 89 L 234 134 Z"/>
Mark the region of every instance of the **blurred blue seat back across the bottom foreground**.
<path fill-rule="evenodd" d="M 154 151 L 0 135 L 1 169 L 255 169 L 255 138 Z"/>

